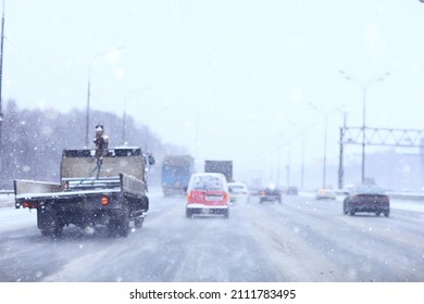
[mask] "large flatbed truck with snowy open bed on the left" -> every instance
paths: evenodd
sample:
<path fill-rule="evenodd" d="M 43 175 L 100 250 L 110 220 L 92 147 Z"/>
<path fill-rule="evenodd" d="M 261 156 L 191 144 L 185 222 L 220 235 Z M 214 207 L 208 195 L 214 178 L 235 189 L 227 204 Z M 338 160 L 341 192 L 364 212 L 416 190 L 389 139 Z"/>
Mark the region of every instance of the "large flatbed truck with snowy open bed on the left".
<path fill-rule="evenodd" d="M 13 180 L 15 207 L 36 210 L 43 236 L 59 236 L 70 225 L 82 229 L 102 225 L 121 237 L 128 236 L 133 221 L 141 227 L 149 210 L 141 149 L 108 149 L 101 161 L 95 153 L 64 150 L 58 183 Z"/>

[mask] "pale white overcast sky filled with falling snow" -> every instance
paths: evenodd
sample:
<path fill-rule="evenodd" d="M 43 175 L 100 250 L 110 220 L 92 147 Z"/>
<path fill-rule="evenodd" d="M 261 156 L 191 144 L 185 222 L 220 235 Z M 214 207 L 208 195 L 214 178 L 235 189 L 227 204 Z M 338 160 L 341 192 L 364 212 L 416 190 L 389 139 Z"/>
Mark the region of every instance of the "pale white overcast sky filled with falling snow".
<path fill-rule="evenodd" d="M 122 115 L 126 104 L 198 160 L 300 163 L 307 129 L 305 162 L 316 165 L 329 113 L 337 164 L 336 109 L 360 126 L 361 86 L 387 72 L 366 90 L 366 124 L 424 129 L 419 0 L 5 0 L 4 12 L 3 101 L 85 110 L 90 78 L 91 109 Z"/>

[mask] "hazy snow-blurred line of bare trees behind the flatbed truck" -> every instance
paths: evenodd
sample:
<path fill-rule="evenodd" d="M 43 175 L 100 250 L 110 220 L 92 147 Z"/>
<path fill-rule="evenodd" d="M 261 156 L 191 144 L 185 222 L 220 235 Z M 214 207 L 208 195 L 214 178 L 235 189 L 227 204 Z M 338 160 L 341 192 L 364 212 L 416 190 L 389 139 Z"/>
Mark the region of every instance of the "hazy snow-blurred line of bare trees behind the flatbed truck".
<path fill-rule="evenodd" d="M 54 109 L 20 110 L 15 100 L 9 100 L 3 113 L 0 145 L 0 189 L 12 189 L 13 179 L 59 182 L 63 149 L 83 149 L 86 145 L 87 113 L 78 109 L 61 113 Z M 101 123 L 109 135 L 109 147 L 128 144 L 140 147 L 158 160 L 164 154 L 187 153 L 186 148 L 164 143 L 148 126 L 124 121 L 116 114 L 92 110 L 88 148 L 95 148 L 96 124 Z M 158 163 L 157 165 L 158 166 Z M 159 169 L 151 172 L 149 181 L 159 181 Z"/>

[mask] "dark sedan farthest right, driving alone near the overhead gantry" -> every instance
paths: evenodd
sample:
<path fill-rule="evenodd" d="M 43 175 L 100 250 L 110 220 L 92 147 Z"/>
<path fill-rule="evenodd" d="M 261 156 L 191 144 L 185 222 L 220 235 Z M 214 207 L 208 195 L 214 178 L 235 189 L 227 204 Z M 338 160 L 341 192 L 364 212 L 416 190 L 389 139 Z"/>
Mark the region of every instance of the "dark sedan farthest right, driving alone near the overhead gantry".
<path fill-rule="evenodd" d="M 344 214 L 354 215 L 357 212 L 390 214 L 390 200 L 385 190 L 377 186 L 359 186 L 353 188 L 344 200 Z"/>

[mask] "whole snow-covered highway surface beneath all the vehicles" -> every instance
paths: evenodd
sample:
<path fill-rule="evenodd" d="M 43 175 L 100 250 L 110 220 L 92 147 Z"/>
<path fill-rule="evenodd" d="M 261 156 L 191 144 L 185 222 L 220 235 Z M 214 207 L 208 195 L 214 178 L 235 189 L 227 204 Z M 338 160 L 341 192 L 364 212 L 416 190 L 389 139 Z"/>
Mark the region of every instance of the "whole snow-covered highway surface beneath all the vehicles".
<path fill-rule="evenodd" d="M 101 227 L 42 237 L 35 211 L 3 204 L 0 281 L 424 281 L 424 210 L 400 201 L 386 218 L 344 215 L 340 199 L 285 195 L 283 204 L 259 204 L 253 198 L 232 205 L 225 219 L 186 218 L 184 197 L 149 197 L 144 227 L 127 238 Z"/>

